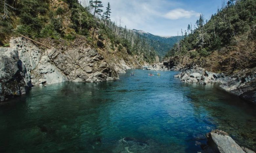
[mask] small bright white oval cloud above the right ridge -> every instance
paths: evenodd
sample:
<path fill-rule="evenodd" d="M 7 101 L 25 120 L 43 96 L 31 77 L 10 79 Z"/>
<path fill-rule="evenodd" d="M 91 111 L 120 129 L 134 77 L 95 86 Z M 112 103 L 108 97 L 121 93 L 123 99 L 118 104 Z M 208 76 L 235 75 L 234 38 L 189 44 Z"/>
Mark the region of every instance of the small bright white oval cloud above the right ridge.
<path fill-rule="evenodd" d="M 173 9 L 164 15 L 165 18 L 171 19 L 171 20 L 198 17 L 198 16 L 200 16 L 200 13 L 197 13 L 193 10 L 184 10 L 184 9 Z"/>

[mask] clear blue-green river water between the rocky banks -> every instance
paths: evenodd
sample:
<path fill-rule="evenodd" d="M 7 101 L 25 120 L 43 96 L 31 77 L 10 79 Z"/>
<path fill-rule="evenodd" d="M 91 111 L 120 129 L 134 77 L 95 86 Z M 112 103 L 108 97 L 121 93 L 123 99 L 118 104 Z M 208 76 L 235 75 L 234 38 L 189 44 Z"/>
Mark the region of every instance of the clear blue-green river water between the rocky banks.
<path fill-rule="evenodd" d="M 177 72 L 133 72 L 34 87 L 0 105 L 0 152 L 197 152 L 216 128 L 256 150 L 254 106 Z"/>

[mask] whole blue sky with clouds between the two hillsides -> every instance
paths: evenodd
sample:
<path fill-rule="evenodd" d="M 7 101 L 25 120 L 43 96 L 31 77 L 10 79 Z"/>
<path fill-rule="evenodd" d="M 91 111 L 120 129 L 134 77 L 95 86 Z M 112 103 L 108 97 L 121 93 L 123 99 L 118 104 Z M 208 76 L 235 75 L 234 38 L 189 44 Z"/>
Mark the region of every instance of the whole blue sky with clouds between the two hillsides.
<path fill-rule="evenodd" d="M 176 36 L 188 24 L 194 26 L 200 14 L 205 19 L 216 13 L 222 0 L 101 0 L 111 6 L 111 20 L 129 29 L 137 29 L 159 36 Z"/>

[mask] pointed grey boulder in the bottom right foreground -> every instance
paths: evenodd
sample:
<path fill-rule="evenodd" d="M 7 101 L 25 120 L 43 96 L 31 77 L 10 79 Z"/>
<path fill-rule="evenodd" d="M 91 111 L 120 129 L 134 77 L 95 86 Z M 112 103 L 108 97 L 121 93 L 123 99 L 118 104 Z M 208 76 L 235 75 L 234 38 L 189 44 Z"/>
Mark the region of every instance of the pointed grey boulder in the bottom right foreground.
<path fill-rule="evenodd" d="M 254 151 L 245 147 L 240 147 L 226 132 L 213 130 L 206 134 L 207 145 L 203 145 L 203 152 L 220 153 L 245 153 Z"/>

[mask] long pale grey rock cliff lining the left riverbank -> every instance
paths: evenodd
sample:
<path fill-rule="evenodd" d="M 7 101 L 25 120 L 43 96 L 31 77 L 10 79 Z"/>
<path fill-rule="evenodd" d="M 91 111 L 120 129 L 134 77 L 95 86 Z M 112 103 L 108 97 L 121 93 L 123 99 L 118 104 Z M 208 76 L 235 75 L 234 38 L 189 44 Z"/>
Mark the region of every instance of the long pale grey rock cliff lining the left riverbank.
<path fill-rule="evenodd" d="M 33 85 L 64 81 L 100 82 L 118 79 L 118 73 L 139 67 L 132 57 L 102 56 L 86 42 L 75 40 L 72 45 L 52 42 L 51 49 L 42 49 L 23 37 L 12 38 L 10 47 L 0 47 L 0 101 L 28 92 Z"/>

